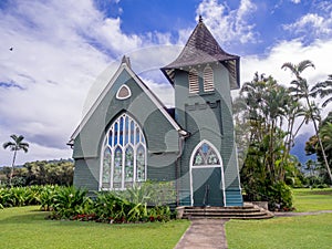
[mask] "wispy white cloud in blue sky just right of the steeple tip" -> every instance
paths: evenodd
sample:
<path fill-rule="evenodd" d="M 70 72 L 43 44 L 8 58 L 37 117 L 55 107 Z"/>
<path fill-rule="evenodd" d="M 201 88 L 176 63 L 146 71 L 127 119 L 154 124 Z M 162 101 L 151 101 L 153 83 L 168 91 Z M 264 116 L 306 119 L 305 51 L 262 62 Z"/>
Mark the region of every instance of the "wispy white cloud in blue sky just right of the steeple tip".
<path fill-rule="evenodd" d="M 219 42 L 248 43 L 256 42 L 255 25 L 248 22 L 256 10 L 250 0 L 241 0 L 239 8 L 235 10 L 218 0 L 204 0 L 196 12 L 203 15 L 204 22 Z"/>

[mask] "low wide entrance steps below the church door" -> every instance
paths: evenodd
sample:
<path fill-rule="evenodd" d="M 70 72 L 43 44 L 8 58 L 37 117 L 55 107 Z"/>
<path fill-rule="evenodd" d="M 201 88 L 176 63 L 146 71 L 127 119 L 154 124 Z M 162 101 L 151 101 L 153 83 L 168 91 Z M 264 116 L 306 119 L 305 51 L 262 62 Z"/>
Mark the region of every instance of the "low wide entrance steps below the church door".
<path fill-rule="evenodd" d="M 269 219 L 273 214 L 246 203 L 242 207 L 177 207 L 181 219 Z"/>

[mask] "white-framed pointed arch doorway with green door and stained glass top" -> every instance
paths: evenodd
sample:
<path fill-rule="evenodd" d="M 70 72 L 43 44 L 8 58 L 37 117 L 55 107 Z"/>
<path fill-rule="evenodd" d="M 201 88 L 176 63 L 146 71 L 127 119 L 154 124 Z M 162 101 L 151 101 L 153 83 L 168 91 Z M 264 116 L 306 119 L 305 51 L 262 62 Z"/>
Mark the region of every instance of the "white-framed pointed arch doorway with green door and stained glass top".
<path fill-rule="evenodd" d="M 201 141 L 190 157 L 191 206 L 226 206 L 221 156 L 208 141 Z"/>

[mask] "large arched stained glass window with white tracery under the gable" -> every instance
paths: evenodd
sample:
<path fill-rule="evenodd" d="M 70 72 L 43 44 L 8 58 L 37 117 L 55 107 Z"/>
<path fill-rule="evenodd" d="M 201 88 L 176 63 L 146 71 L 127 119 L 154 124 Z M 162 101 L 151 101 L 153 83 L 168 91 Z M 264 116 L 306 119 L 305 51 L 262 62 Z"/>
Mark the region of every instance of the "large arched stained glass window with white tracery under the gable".
<path fill-rule="evenodd" d="M 146 180 L 146 144 L 139 124 L 118 116 L 106 133 L 101 167 L 103 189 L 124 189 Z"/>

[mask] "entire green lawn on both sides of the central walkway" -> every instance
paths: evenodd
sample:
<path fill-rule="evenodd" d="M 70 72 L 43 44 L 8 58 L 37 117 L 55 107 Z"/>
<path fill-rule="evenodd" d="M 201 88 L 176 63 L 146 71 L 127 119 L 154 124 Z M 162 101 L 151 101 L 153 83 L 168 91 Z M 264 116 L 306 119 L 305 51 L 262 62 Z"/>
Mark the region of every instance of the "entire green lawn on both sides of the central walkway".
<path fill-rule="evenodd" d="M 332 210 L 332 189 L 294 189 L 297 211 Z M 189 226 L 166 224 L 107 225 L 46 220 L 39 207 L 0 209 L 0 248 L 174 248 Z M 332 214 L 230 220 L 226 222 L 230 249 L 331 248 Z"/>

